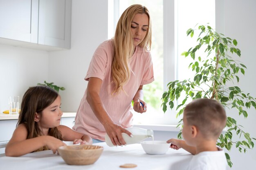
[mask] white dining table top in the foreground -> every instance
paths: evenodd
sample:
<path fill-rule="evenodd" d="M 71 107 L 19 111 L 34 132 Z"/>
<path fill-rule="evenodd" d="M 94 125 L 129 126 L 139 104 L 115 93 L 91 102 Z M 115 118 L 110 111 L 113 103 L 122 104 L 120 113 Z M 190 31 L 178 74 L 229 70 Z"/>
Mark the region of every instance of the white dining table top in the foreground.
<path fill-rule="evenodd" d="M 169 149 L 166 154 L 146 154 L 140 144 L 109 147 L 105 142 L 95 143 L 104 147 L 101 157 L 92 165 L 67 165 L 61 156 L 51 150 L 34 152 L 22 157 L 0 157 L 1 170 L 125 170 L 125 163 L 134 163 L 132 170 L 185 170 L 192 155 L 183 149 Z"/>

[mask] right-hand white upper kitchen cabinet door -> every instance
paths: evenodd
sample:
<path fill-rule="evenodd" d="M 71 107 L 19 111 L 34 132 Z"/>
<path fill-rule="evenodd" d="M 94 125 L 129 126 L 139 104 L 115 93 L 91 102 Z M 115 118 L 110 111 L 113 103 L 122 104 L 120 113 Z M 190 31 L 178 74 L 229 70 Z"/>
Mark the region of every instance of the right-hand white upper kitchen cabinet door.
<path fill-rule="evenodd" d="M 40 0 L 38 44 L 70 49 L 71 0 Z"/>

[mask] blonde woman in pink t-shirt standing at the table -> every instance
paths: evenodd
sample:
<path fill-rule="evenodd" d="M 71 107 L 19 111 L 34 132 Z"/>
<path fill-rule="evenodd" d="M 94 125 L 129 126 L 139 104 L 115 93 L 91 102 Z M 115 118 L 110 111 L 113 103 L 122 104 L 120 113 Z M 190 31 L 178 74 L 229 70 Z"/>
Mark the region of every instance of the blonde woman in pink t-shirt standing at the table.
<path fill-rule="evenodd" d="M 76 114 L 74 130 L 114 145 L 125 145 L 121 133 L 132 126 L 132 101 L 136 112 L 147 111 L 143 85 L 154 81 L 150 55 L 151 21 L 148 9 L 139 4 L 121 15 L 115 37 L 94 52 L 85 80 L 87 89 Z"/>

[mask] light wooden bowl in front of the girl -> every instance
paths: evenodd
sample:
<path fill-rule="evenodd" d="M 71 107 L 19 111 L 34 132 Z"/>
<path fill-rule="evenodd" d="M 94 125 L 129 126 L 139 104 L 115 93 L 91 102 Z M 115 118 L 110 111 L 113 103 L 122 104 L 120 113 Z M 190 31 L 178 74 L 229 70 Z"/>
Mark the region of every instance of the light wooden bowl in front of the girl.
<path fill-rule="evenodd" d="M 58 148 L 58 153 L 69 165 L 90 165 L 99 159 L 102 152 L 103 147 L 97 145 L 67 145 Z"/>

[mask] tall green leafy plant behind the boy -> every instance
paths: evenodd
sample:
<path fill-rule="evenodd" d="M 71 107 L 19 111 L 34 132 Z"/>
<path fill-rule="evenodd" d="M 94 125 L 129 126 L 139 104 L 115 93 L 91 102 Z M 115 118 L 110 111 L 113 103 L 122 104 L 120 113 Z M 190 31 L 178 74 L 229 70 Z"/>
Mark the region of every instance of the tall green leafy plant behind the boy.
<path fill-rule="evenodd" d="M 190 56 L 193 62 L 190 63 L 189 69 L 195 72 L 193 80 L 172 81 L 167 84 L 168 90 L 162 95 L 162 108 L 166 112 L 167 105 L 173 109 L 174 101 L 179 100 L 177 105 L 177 116 L 180 116 L 188 99 L 195 98 L 212 98 L 218 100 L 225 108 L 227 114 L 229 109 L 236 108 L 237 114 L 247 118 L 246 109 L 254 107 L 256 109 L 256 98 L 250 96 L 249 93 L 243 92 L 240 87 L 235 85 L 239 82 L 238 73 L 245 74 L 246 66 L 234 59 L 241 56 L 240 49 L 236 48 L 236 39 L 225 37 L 218 34 L 209 25 L 200 25 L 198 29 L 188 29 L 187 36 L 198 33 L 197 45 L 191 47 L 188 51 L 182 53 L 182 56 Z M 204 57 L 198 56 L 198 50 L 204 50 Z M 227 83 L 229 82 L 229 83 Z M 232 86 L 229 86 L 232 84 Z M 232 113 L 233 114 L 233 113 Z M 182 119 L 177 127 L 182 125 Z M 231 147 L 236 147 L 240 152 L 246 152 L 254 147 L 252 138 L 249 133 L 243 130 L 243 126 L 232 117 L 227 117 L 227 131 L 223 132 L 217 145 L 226 148 L 228 151 Z M 232 136 L 236 134 L 239 141 L 232 140 Z M 178 134 L 181 138 L 181 132 Z M 226 153 L 228 165 L 232 167 L 233 163 Z"/>

